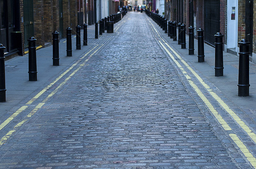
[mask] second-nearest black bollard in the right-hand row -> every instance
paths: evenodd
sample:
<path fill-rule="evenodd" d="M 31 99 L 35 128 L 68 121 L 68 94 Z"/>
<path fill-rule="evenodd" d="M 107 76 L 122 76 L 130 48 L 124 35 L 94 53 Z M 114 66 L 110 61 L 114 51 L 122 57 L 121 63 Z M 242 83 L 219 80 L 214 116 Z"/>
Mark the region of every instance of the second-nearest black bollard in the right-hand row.
<path fill-rule="evenodd" d="M 215 76 L 223 76 L 223 35 L 219 32 L 215 36 Z"/>

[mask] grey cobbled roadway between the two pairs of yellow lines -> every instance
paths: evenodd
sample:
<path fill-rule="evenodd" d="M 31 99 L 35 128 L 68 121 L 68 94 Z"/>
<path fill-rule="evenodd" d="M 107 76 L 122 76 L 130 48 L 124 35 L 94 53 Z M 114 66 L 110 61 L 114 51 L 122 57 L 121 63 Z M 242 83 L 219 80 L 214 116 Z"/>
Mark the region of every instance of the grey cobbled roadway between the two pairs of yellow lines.
<path fill-rule="evenodd" d="M 146 17 L 125 16 L 114 38 L 0 148 L 0 168 L 241 167 Z"/>

